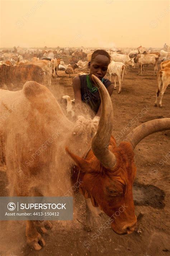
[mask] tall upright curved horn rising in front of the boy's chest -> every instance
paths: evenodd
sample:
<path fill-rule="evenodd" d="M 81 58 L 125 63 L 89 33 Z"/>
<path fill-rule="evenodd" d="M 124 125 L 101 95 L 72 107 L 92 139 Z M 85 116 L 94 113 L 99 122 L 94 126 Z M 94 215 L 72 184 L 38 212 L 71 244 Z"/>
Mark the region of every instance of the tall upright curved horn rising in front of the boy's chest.
<path fill-rule="evenodd" d="M 97 133 L 91 142 L 91 148 L 101 164 L 106 168 L 112 169 L 116 164 L 114 154 L 108 150 L 113 128 L 112 101 L 103 83 L 96 76 L 92 75 L 91 77 L 96 87 L 98 87 L 101 97 L 101 116 Z"/>

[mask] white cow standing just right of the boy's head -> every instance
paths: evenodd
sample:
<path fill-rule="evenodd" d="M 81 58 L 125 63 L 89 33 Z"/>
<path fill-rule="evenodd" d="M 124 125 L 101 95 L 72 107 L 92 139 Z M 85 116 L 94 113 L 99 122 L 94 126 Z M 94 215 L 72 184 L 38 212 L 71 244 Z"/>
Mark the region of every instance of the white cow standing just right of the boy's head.
<path fill-rule="evenodd" d="M 122 91 L 122 83 L 123 83 L 123 76 L 124 76 L 125 70 L 126 70 L 126 65 L 124 65 L 122 62 L 115 62 L 114 60 L 112 60 L 108 66 L 110 81 L 112 79 L 112 76 L 114 75 L 114 89 L 116 89 L 116 77 L 118 77 L 118 81 L 119 81 L 118 93 L 121 93 Z"/>

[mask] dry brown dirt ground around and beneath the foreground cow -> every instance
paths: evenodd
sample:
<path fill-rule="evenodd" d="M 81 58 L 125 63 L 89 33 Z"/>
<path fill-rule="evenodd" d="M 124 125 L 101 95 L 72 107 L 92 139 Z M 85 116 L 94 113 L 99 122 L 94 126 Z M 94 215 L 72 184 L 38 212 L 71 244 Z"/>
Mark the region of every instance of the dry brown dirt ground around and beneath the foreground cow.
<path fill-rule="evenodd" d="M 80 72 L 76 69 L 76 72 Z M 117 142 L 128 132 L 143 122 L 156 118 L 170 117 L 170 89 L 167 88 L 162 101 L 163 107 L 154 107 L 157 78 L 153 67 L 147 67 L 142 76 L 138 70 L 129 68 L 124 75 L 122 93 L 114 90 L 113 135 Z M 72 78 L 65 72 L 52 80 L 51 91 L 60 100 L 61 95 L 74 98 Z M 74 77 L 74 75 L 71 75 Z M 133 186 L 136 215 L 143 212 L 138 232 L 130 235 L 117 235 L 110 226 L 101 228 L 108 220 L 106 215 L 99 218 L 98 226 L 91 232 L 84 230 L 78 221 L 53 222 L 53 228 L 44 235 L 46 246 L 39 252 L 29 248 L 25 242 L 23 221 L 0 222 L 0 255 L 60 255 L 60 256 L 169 256 L 170 255 L 170 131 L 148 136 L 138 144 L 135 153 L 137 176 Z M 163 178 L 163 179 L 161 179 Z M 156 180 L 160 179 L 160 180 Z M 156 181 L 155 181 L 156 180 Z M 155 181 L 154 183 L 152 183 Z M 152 183 L 152 184 L 151 184 Z M 7 195 L 5 167 L 0 172 L 0 196 Z M 81 196 L 76 199 L 77 219 L 85 223 L 85 204 Z M 95 225 L 95 224 L 94 224 Z M 100 228 L 100 229 L 99 229 Z"/>

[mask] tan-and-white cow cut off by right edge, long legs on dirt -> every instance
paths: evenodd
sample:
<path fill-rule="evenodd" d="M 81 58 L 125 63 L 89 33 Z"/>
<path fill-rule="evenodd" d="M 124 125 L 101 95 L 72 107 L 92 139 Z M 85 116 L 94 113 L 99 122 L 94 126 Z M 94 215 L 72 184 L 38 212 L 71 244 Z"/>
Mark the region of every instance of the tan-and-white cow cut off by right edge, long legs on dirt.
<path fill-rule="evenodd" d="M 160 100 L 159 100 L 159 107 L 162 107 L 162 97 L 166 91 L 167 86 L 170 85 L 170 68 L 161 69 L 158 72 L 157 81 L 158 81 L 158 89 L 156 91 L 155 106 L 157 106 L 157 98 L 159 94 L 161 94 Z"/>

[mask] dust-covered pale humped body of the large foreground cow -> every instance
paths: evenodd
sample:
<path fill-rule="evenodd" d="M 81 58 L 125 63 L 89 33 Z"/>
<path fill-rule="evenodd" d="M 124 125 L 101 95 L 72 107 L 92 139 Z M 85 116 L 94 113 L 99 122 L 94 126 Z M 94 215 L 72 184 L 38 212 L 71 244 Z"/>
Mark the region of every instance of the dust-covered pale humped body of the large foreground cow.
<path fill-rule="evenodd" d="M 52 93 L 36 82 L 26 82 L 20 91 L 0 90 L 0 116 L 10 196 L 71 193 L 74 161 L 65 147 L 84 156 L 99 118 L 70 122 Z"/>

